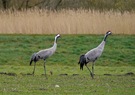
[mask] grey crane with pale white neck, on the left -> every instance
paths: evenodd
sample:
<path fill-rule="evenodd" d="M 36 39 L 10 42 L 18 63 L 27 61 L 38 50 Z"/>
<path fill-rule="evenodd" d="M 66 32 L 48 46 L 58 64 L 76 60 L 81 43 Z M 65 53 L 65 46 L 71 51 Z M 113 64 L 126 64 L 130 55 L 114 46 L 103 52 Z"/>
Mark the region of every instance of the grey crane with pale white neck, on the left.
<path fill-rule="evenodd" d="M 34 69 L 33 69 L 33 73 L 32 73 L 33 75 L 34 75 L 34 72 L 35 72 L 36 62 L 39 61 L 39 60 L 44 60 L 44 72 L 45 72 L 45 76 L 47 78 L 47 75 L 46 75 L 46 66 L 45 66 L 46 59 L 48 59 L 50 56 L 52 56 L 55 53 L 56 48 L 57 48 L 57 39 L 59 37 L 60 37 L 60 34 L 57 34 L 55 36 L 54 44 L 53 44 L 52 47 L 47 48 L 47 49 L 40 50 L 39 52 L 32 54 L 31 59 L 30 59 L 30 65 L 34 61 Z"/>

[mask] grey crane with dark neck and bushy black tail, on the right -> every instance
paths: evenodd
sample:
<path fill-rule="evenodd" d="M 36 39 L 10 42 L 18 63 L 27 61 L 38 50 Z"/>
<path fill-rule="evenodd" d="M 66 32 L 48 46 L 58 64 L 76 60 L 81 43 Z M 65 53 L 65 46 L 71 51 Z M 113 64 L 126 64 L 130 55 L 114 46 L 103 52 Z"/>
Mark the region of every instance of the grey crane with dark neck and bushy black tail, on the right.
<path fill-rule="evenodd" d="M 102 42 L 96 48 L 93 48 L 90 51 L 88 51 L 87 53 L 82 54 L 80 56 L 80 59 L 78 62 L 78 64 L 80 64 L 80 70 L 83 70 L 83 66 L 85 65 L 87 67 L 87 69 L 89 70 L 92 79 L 94 78 L 95 61 L 102 55 L 102 52 L 104 50 L 104 46 L 106 43 L 106 39 L 107 39 L 108 35 L 111 35 L 111 34 L 112 34 L 112 32 L 110 30 L 107 31 L 106 34 L 104 35 Z M 87 66 L 87 64 L 89 62 L 92 62 L 92 71 Z"/>

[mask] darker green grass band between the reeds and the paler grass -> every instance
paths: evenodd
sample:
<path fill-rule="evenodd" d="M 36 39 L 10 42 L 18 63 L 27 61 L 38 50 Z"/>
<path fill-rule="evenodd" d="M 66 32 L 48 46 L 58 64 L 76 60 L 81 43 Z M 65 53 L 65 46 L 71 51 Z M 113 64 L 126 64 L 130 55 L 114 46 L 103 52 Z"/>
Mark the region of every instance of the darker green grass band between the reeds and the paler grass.
<path fill-rule="evenodd" d="M 53 45 L 55 35 L 0 35 L 0 64 L 29 65 L 34 52 Z M 104 35 L 61 35 L 56 53 L 48 64 L 75 65 L 79 56 L 98 46 Z M 134 35 L 111 35 L 97 65 L 134 65 Z M 68 47 L 68 48 L 67 48 Z M 70 56 L 69 56 L 70 55 Z M 65 60 L 66 59 L 66 60 Z M 41 64 L 39 61 L 38 64 Z"/>

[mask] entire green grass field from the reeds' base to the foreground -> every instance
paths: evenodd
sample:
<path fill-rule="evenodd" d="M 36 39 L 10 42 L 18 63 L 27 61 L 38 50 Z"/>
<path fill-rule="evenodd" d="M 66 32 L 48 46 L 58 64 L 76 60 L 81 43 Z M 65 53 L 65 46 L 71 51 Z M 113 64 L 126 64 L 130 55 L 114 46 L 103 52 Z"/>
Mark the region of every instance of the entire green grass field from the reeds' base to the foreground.
<path fill-rule="evenodd" d="M 134 95 L 135 35 L 108 37 L 96 61 L 95 79 L 86 67 L 80 71 L 79 56 L 99 45 L 103 36 L 61 35 L 56 53 L 47 60 L 46 79 L 43 61 L 37 62 L 35 76 L 29 75 L 29 61 L 32 53 L 52 46 L 54 35 L 0 35 L 0 94 Z"/>

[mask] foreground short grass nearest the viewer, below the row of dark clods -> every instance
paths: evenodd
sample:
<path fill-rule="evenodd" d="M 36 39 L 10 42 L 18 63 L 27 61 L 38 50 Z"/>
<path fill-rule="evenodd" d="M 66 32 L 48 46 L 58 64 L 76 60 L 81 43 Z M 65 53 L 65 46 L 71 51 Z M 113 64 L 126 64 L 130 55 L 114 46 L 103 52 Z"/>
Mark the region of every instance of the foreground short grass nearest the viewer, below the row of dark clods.
<path fill-rule="evenodd" d="M 63 67 L 61 67 L 63 68 Z M 121 68 L 120 68 L 121 69 Z M 70 69 L 69 69 L 70 70 Z M 1 95 L 134 95 L 134 75 L 0 75 Z"/>

